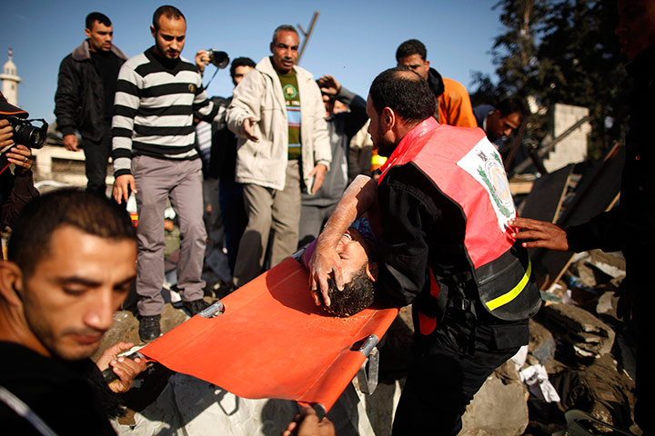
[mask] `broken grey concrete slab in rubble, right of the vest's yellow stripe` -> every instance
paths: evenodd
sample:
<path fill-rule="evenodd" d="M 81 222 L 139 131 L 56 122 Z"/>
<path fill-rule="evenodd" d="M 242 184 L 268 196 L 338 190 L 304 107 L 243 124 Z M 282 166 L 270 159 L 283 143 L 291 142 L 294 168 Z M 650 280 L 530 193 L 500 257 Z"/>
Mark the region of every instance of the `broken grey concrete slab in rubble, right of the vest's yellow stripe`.
<path fill-rule="evenodd" d="M 583 357 L 611 351 L 616 333 L 605 322 L 577 306 L 554 302 L 545 306 L 544 322 L 553 335 L 573 346 Z"/>

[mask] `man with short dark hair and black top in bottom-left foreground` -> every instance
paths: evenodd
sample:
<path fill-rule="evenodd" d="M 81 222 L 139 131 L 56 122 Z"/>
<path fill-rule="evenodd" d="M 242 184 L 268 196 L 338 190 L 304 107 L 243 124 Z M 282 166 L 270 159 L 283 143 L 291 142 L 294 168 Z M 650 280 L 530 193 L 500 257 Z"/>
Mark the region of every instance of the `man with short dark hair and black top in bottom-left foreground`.
<path fill-rule="evenodd" d="M 0 262 L 3 428 L 32 434 L 45 424 L 57 434 L 115 434 L 99 400 L 99 393 L 112 396 L 100 371 L 111 366 L 118 380 L 109 389 L 122 392 L 145 362 L 116 358 L 132 346 L 122 342 L 97 366 L 89 356 L 126 299 L 135 265 L 134 228 L 109 200 L 65 190 L 25 206 L 8 261 Z"/>

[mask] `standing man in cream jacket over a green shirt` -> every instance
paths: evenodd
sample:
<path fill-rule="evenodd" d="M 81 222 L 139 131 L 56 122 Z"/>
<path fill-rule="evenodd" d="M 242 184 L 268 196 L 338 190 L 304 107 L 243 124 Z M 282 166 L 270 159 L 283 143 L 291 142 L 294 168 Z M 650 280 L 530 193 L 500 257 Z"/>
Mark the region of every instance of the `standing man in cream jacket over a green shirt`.
<path fill-rule="evenodd" d="M 239 136 L 236 180 L 244 183 L 248 216 L 237 286 L 262 272 L 267 251 L 271 266 L 294 252 L 300 192 L 316 193 L 331 161 L 323 100 L 313 75 L 295 65 L 298 44 L 293 26 L 278 26 L 272 55 L 247 74 L 227 109 L 227 125 Z"/>

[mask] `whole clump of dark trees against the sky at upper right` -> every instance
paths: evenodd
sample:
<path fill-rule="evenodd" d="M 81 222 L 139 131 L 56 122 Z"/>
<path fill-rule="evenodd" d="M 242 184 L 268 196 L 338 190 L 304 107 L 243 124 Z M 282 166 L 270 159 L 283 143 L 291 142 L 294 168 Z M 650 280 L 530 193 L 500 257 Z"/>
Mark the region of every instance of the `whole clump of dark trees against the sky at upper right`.
<path fill-rule="evenodd" d="M 616 5 L 592 0 L 502 0 L 500 22 L 507 29 L 492 46 L 499 83 L 478 74 L 476 104 L 508 94 L 589 107 L 589 152 L 598 157 L 620 138 L 627 113 L 625 59 L 613 35 Z M 609 123 L 611 121 L 611 123 Z M 546 116 L 532 116 L 528 132 L 541 138 Z"/>

